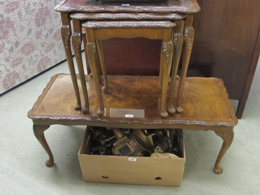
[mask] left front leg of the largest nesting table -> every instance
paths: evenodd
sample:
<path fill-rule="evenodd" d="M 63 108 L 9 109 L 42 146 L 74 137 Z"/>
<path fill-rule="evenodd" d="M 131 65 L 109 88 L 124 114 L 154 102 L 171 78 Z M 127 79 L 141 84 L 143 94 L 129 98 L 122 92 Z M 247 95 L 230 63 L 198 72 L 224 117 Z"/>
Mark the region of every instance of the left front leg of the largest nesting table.
<path fill-rule="evenodd" d="M 71 30 L 70 18 L 68 16 L 68 13 L 61 13 L 61 20 L 63 24 L 61 27 L 62 42 L 63 42 L 67 63 L 69 66 L 69 72 L 71 75 L 71 79 L 72 79 L 72 83 L 73 83 L 73 87 L 77 99 L 77 103 L 74 106 L 74 108 L 78 110 L 81 109 L 81 101 L 80 101 L 79 86 L 77 83 L 76 72 L 75 72 L 75 67 L 72 59 L 71 47 L 70 47 L 70 37 L 72 34 L 72 30 Z"/>

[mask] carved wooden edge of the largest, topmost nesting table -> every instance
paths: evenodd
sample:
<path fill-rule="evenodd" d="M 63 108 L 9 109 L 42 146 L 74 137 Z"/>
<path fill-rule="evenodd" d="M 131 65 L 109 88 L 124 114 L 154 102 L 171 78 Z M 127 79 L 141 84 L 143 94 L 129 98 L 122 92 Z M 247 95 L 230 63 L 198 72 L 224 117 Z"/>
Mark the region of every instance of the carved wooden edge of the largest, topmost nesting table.
<path fill-rule="evenodd" d="M 191 7 L 178 6 L 120 6 L 120 5 L 82 5 L 82 6 L 63 6 L 68 0 L 62 1 L 56 5 L 54 10 L 58 12 L 154 12 L 154 13 L 184 13 L 193 14 L 199 12 L 200 6 L 196 0 L 191 0 Z"/>

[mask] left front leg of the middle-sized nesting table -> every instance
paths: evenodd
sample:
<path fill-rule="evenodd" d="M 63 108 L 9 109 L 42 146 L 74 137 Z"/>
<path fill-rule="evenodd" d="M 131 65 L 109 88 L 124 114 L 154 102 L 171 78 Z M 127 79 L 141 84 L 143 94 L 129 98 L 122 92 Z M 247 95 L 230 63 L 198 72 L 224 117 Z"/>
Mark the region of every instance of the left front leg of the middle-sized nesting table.
<path fill-rule="evenodd" d="M 79 69 L 80 82 L 81 82 L 81 87 L 82 87 L 84 102 L 85 102 L 85 106 L 82 108 L 82 112 L 88 112 L 89 111 L 88 91 L 87 91 L 87 85 L 86 85 L 86 79 L 85 79 L 85 73 L 84 73 L 84 67 L 83 67 L 82 55 L 81 55 L 82 28 L 79 20 L 73 20 L 73 29 L 74 29 L 74 33 L 72 35 L 72 45 L 73 45 L 73 50 L 77 62 L 77 67 Z"/>

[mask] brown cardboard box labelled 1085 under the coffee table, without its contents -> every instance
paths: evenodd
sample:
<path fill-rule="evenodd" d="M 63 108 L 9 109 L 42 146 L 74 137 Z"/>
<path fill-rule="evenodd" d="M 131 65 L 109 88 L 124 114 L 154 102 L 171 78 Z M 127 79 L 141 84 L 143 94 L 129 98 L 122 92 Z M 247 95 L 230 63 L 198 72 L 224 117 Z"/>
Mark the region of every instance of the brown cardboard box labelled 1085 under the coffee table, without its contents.
<path fill-rule="evenodd" d="M 92 132 L 87 127 L 78 153 L 84 181 L 180 186 L 185 166 L 183 131 L 178 130 L 182 158 L 91 155 Z M 133 161 L 135 160 L 135 161 Z"/>

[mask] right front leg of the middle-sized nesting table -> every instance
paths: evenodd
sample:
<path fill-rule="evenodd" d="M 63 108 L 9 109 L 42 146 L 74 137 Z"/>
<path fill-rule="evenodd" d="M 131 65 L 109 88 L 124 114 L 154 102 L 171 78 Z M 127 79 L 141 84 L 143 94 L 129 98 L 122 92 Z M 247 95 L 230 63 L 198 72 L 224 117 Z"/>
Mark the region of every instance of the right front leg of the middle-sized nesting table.
<path fill-rule="evenodd" d="M 173 92 L 175 87 L 175 81 L 177 77 L 177 71 L 180 61 L 180 54 L 183 45 L 183 20 L 175 21 L 176 27 L 174 27 L 174 35 L 173 35 L 173 45 L 174 45 L 174 62 L 172 67 L 172 76 L 171 76 L 171 86 L 170 86 L 170 99 L 169 99 L 169 113 L 175 113 L 176 109 L 174 108 L 173 102 Z"/>

